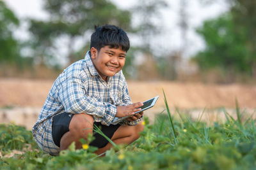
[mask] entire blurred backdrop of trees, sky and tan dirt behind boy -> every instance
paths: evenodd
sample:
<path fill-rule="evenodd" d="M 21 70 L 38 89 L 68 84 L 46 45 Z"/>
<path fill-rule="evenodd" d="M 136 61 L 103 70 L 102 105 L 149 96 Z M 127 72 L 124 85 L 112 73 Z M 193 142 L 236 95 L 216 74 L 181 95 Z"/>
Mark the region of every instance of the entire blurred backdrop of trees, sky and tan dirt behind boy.
<path fill-rule="evenodd" d="M 255 0 L 2 0 L 0 106 L 42 107 L 58 74 L 90 50 L 94 25 L 115 24 L 131 41 L 123 71 L 133 101 L 164 89 L 171 106 L 234 108 L 237 97 L 255 108 L 255 9 Z"/>

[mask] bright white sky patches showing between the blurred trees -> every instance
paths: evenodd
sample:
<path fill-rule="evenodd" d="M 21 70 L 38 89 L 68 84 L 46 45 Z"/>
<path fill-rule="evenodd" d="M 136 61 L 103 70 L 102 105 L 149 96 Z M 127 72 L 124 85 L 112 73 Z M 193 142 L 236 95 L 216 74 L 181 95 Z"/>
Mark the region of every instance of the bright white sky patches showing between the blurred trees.
<path fill-rule="evenodd" d="M 36 18 L 47 20 L 47 13 L 42 9 L 42 0 L 3 0 L 9 8 L 13 10 L 13 12 L 19 18 Z M 122 9 L 129 9 L 132 5 L 138 2 L 138 0 L 111 0 L 117 6 Z M 195 28 L 202 25 L 203 21 L 209 18 L 214 18 L 227 11 L 228 7 L 223 1 L 216 1 L 215 3 L 211 3 L 208 5 L 202 5 L 199 2 L 202 0 L 186 0 L 188 8 L 186 9 L 186 13 L 188 16 L 188 32 L 187 32 L 187 40 L 186 44 L 186 52 L 185 57 L 191 57 L 198 50 L 202 50 L 204 48 L 204 40 L 198 36 L 195 32 Z M 171 53 L 175 50 L 179 50 L 182 46 L 182 40 L 180 36 L 179 29 L 179 10 L 180 10 L 180 1 L 173 0 L 168 1 L 168 7 L 165 9 L 161 9 L 161 17 L 163 20 L 157 21 L 156 24 L 163 25 L 162 29 L 159 30 L 159 35 L 151 39 L 152 44 L 156 47 L 156 53 Z M 222 2 L 222 3 L 221 3 Z M 29 34 L 26 31 L 26 25 L 22 25 L 22 29 L 16 32 L 16 36 L 20 39 L 28 38 Z M 140 41 L 136 38 L 131 39 L 131 45 L 134 43 L 138 43 Z M 78 45 L 79 46 L 79 45 Z M 158 50 L 158 51 L 157 51 Z M 65 50 L 63 50 L 65 53 Z"/>

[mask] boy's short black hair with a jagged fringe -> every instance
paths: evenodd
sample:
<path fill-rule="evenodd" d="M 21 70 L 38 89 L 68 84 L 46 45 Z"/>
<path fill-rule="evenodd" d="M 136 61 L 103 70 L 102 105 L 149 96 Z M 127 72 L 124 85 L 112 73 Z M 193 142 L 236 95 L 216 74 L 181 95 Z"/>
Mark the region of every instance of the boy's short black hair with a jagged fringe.
<path fill-rule="evenodd" d="M 109 45 L 110 48 L 121 46 L 124 52 L 130 48 L 130 41 L 127 34 L 120 27 L 115 25 L 95 26 L 95 32 L 91 36 L 90 48 L 94 47 L 98 51 L 100 48 Z"/>

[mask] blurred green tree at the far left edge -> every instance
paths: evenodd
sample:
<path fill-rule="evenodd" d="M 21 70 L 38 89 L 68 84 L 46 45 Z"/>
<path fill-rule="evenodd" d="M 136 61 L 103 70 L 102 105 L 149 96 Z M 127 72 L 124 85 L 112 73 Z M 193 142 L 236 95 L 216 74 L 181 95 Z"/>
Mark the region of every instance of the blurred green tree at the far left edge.
<path fill-rule="evenodd" d="M 20 60 L 18 41 L 13 38 L 13 29 L 19 26 L 19 19 L 0 1 L 0 63 L 16 64 Z"/>

